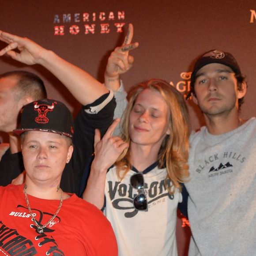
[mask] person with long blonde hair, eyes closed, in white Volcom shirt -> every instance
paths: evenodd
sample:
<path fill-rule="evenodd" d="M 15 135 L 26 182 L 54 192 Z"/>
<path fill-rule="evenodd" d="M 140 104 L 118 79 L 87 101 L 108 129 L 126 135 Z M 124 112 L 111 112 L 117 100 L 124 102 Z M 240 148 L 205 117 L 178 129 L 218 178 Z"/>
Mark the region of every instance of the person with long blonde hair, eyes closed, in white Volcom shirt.
<path fill-rule="evenodd" d="M 128 95 L 121 136 L 100 139 L 83 198 L 104 209 L 119 255 L 177 255 L 177 205 L 188 179 L 188 110 L 169 83 L 151 79 Z"/>

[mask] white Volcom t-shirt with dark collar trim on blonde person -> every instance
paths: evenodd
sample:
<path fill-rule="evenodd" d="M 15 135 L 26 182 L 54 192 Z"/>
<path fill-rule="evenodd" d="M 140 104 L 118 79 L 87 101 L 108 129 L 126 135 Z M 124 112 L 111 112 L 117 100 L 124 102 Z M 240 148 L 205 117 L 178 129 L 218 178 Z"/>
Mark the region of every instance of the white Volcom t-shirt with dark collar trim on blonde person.
<path fill-rule="evenodd" d="M 142 172 L 148 211 L 137 211 L 133 198 L 138 192 L 130 184 L 130 177 L 136 172 L 132 168 L 120 181 L 114 166 L 106 176 L 105 215 L 113 226 L 119 255 L 176 256 L 177 204 L 182 201 L 181 193 L 168 193 L 166 169 L 158 169 L 154 163 Z"/>

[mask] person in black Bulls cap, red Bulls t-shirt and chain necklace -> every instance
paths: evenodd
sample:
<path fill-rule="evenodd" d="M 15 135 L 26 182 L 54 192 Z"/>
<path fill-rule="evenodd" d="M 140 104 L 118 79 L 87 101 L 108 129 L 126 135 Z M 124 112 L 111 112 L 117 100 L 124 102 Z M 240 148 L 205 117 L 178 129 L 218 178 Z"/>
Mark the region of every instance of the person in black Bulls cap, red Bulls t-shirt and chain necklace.
<path fill-rule="evenodd" d="M 26 181 L 0 187 L 4 254 L 117 255 L 112 227 L 102 212 L 60 188 L 72 157 L 73 127 L 72 114 L 59 101 L 43 99 L 23 108 L 14 132 L 21 135 Z"/>

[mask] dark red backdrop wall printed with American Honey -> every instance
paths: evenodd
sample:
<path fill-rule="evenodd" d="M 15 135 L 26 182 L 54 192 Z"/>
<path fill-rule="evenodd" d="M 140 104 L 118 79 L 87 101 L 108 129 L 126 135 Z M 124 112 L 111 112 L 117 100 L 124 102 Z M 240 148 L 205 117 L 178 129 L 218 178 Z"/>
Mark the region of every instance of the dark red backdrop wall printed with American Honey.
<path fill-rule="evenodd" d="M 0 29 L 37 41 L 103 82 L 109 53 L 123 41 L 121 31 L 126 32 L 128 23 L 133 23 L 134 41 L 140 45 L 132 53 L 133 69 L 123 75 L 127 90 L 157 77 L 186 94 L 196 57 L 210 49 L 229 51 L 247 76 L 248 93 L 241 111 L 241 117 L 247 119 L 256 115 L 255 10 L 254 0 L 6 0 L 1 1 Z M 78 102 L 44 68 L 26 67 L 7 57 L 0 58 L 0 64 L 0 73 L 14 69 L 37 73 L 45 81 L 49 97 L 65 102 L 77 113 Z M 197 129 L 203 124 L 201 113 L 191 101 L 188 106 L 192 128 Z M 189 235 L 186 222 L 179 218 L 180 255 L 187 254 Z"/>

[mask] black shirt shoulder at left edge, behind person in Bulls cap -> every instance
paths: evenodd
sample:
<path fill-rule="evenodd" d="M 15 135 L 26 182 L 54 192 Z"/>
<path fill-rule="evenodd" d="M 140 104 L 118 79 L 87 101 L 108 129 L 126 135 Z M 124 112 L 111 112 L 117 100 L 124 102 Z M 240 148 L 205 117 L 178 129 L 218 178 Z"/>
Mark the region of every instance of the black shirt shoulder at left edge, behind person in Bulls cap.
<path fill-rule="evenodd" d="M 10 149 L 8 149 L 0 161 L 0 186 L 11 184 L 11 181 L 22 173 L 23 170 L 24 165 L 21 152 L 11 154 Z"/>

